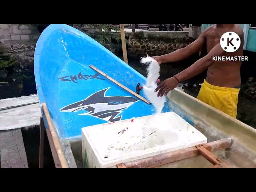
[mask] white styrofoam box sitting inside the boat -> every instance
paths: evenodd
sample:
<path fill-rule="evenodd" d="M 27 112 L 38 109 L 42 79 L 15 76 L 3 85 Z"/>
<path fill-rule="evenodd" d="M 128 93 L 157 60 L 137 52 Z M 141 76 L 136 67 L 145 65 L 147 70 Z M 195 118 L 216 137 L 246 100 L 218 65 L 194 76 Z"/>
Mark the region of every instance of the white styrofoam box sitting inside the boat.
<path fill-rule="evenodd" d="M 115 168 L 204 143 L 206 136 L 174 112 L 82 128 L 82 156 L 88 168 Z"/>

